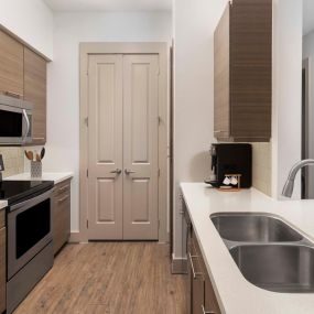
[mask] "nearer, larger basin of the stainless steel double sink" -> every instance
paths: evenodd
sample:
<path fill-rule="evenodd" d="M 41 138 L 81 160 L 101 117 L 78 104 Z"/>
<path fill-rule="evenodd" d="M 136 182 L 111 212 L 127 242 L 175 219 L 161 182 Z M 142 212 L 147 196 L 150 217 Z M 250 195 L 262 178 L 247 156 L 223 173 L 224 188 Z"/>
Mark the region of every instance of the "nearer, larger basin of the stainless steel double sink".
<path fill-rule="evenodd" d="M 245 245 L 230 249 L 252 284 L 290 293 L 314 292 L 314 249 L 303 245 Z"/>

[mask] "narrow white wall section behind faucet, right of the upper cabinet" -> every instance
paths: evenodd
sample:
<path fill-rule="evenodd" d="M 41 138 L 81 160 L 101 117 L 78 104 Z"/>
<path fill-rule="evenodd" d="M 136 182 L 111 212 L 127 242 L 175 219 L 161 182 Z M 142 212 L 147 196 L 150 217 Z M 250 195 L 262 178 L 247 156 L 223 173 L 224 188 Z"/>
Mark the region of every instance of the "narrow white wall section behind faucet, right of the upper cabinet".
<path fill-rule="evenodd" d="M 272 196 L 301 160 L 302 1 L 273 1 Z M 300 174 L 294 198 L 300 198 Z"/>

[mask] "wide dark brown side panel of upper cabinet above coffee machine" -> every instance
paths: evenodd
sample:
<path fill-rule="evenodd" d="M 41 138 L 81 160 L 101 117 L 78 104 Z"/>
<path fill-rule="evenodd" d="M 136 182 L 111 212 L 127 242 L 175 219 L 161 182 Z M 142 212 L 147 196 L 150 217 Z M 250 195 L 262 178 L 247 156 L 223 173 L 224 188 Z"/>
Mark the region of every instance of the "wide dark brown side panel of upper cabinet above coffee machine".
<path fill-rule="evenodd" d="M 230 14 L 231 137 L 269 141 L 272 90 L 272 1 L 234 1 Z"/>

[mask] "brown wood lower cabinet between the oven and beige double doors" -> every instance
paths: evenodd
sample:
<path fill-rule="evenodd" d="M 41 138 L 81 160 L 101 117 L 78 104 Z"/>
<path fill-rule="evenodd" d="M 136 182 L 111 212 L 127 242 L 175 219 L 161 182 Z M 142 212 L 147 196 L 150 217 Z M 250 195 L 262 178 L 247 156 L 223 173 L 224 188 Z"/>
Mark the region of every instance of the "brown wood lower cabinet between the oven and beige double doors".
<path fill-rule="evenodd" d="M 71 181 L 56 184 L 53 192 L 54 253 L 68 241 L 71 229 Z"/>

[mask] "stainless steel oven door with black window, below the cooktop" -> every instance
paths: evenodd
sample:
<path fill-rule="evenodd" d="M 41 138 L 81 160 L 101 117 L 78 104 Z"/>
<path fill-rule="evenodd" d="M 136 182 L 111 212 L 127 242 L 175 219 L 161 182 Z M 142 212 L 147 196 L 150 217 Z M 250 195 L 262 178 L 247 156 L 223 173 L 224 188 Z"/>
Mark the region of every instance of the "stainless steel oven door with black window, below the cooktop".
<path fill-rule="evenodd" d="M 52 241 L 52 190 L 9 207 L 8 280 Z"/>

